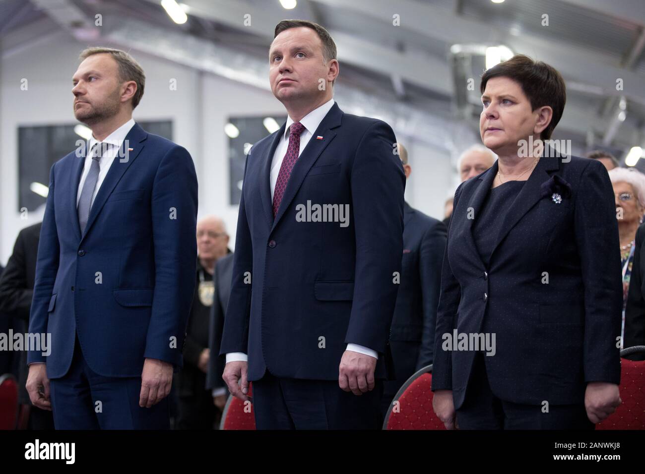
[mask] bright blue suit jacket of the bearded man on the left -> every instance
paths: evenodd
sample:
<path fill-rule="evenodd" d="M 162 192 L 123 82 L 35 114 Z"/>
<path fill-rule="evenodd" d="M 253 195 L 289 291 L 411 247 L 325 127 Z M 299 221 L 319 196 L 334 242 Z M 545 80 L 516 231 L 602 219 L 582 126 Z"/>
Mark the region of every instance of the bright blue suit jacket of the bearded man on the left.
<path fill-rule="evenodd" d="M 81 235 L 84 156 L 54 163 L 38 246 L 31 333 L 51 333 L 50 379 L 63 377 L 78 334 L 90 368 L 141 377 L 145 358 L 181 366 L 195 288 L 197 177 L 181 146 L 138 124 L 115 157 Z M 83 153 L 81 153 L 83 154 Z M 100 273 L 99 273 L 100 272 Z"/>

